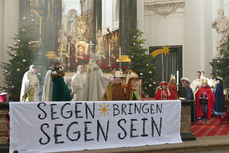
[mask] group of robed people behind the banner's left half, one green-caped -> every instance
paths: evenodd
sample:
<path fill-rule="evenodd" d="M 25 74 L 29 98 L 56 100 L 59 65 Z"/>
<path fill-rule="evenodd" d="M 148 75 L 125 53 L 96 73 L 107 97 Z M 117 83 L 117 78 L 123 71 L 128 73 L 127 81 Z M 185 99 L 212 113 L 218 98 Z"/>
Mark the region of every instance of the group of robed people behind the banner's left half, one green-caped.
<path fill-rule="evenodd" d="M 64 76 L 65 69 L 61 60 L 56 60 L 47 71 L 42 101 L 99 101 L 102 100 L 109 81 L 113 80 L 113 74 L 105 75 L 100 65 L 99 54 L 91 53 L 91 62 L 86 73 L 86 80 L 83 78 L 84 66 L 78 65 L 77 73 L 71 79 L 71 87 L 68 88 Z M 30 66 L 22 80 L 20 101 L 40 101 L 39 81 L 36 76 L 36 67 Z"/>

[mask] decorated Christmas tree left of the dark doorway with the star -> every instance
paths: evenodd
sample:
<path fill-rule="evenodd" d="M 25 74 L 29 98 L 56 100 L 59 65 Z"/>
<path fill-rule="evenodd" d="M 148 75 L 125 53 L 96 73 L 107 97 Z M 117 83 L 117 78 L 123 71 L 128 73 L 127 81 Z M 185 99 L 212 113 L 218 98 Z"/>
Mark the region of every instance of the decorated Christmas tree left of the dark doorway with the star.
<path fill-rule="evenodd" d="M 130 34 L 130 45 L 128 55 L 131 58 L 130 69 L 142 78 L 143 95 L 154 94 L 155 83 L 155 65 L 152 56 L 147 53 L 143 47 L 145 39 L 142 38 L 143 32 L 135 28 Z"/>

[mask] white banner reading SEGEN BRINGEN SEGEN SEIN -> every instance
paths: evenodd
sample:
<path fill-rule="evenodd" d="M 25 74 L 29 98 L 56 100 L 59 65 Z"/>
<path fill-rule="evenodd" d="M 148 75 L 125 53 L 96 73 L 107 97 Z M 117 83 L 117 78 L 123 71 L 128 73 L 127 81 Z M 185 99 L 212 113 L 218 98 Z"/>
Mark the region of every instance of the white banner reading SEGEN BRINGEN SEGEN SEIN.
<path fill-rule="evenodd" d="M 181 102 L 10 103 L 10 153 L 180 143 Z"/>

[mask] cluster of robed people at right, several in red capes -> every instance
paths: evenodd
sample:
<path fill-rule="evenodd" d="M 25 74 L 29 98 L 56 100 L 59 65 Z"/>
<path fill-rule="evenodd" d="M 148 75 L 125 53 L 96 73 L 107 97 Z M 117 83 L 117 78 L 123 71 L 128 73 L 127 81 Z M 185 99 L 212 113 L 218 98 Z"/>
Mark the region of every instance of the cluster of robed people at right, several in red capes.
<path fill-rule="evenodd" d="M 197 118 L 202 119 L 202 124 L 209 124 L 212 112 L 215 115 L 224 114 L 223 78 L 215 77 L 211 73 L 210 78 L 205 77 L 202 71 L 196 72 L 196 79 L 181 78 L 182 87 L 177 90 L 175 76 L 171 75 L 169 83 L 162 81 L 156 90 L 156 100 L 178 99 L 185 97 L 186 100 L 194 100 L 192 107 L 192 122 Z M 179 96 L 178 96 L 179 95 Z"/>

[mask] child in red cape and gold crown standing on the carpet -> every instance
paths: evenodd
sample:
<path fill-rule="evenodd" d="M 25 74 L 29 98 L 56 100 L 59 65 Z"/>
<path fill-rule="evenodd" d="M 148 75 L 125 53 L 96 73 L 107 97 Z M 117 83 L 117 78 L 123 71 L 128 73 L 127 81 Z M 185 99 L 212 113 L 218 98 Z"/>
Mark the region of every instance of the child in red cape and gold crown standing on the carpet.
<path fill-rule="evenodd" d="M 196 95 L 196 113 L 197 117 L 202 117 L 202 124 L 209 123 L 211 113 L 215 102 L 215 96 L 208 85 L 207 79 L 202 79 L 202 86 L 197 91 Z"/>

